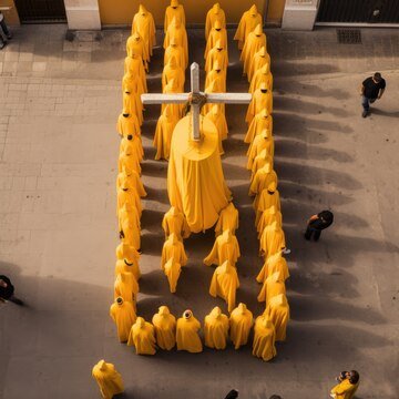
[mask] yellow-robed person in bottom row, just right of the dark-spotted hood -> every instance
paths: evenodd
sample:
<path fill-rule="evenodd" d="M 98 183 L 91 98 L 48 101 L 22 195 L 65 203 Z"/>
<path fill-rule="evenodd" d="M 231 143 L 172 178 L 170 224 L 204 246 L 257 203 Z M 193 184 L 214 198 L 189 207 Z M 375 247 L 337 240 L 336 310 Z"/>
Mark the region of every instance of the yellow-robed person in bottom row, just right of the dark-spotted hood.
<path fill-rule="evenodd" d="M 218 306 L 205 316 L 204 321 L 205 346 L 212 349 L 225 349 L 228 337 L 228 317 Z"/>

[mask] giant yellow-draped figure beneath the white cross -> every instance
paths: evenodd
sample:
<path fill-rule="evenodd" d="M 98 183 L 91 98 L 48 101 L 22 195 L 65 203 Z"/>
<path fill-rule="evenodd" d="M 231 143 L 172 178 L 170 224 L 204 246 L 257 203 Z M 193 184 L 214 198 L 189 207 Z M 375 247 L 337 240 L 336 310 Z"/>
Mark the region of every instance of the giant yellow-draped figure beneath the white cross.
<path fill-rule="evenodd" d="M 216 126 L 200 116 L 201 140 L 192 140 L 191 115 L 176 125 L 167 168 L 170 203 L 181 211 L 193 233 L 212 227 L 227 206 L 231 192 L 224 180 Z"/>

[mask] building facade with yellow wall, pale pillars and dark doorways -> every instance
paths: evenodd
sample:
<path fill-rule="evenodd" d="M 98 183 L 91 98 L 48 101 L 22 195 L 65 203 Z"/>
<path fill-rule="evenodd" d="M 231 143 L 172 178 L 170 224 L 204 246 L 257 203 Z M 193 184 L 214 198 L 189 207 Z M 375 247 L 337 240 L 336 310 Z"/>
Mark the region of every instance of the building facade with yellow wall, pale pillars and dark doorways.
<path fill-rule="evenodd" d="M 207 10 L 216 1 L 231 24 L 238 23 L 242 13 L 254 3 L 265 16 L 266 25 L 288 30 L 399 24 L 399 0 L 181 0 L 187 25 L 204 24 Z M 100 30 L 129 25 L 141 2 L 161 27 L 170 0 L 0 0 L 0 9 L 10 24 L 65 22 L 71 30 Z"/>

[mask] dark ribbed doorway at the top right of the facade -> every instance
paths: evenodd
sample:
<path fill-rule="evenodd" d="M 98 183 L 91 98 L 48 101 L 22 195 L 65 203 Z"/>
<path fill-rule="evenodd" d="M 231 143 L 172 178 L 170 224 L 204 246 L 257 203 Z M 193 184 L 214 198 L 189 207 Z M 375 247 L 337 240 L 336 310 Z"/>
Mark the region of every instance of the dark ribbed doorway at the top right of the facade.
<path fill-rule="evenodd" d="M 320 0 L 317 22 L 399 23 L 399 0 Z"/>

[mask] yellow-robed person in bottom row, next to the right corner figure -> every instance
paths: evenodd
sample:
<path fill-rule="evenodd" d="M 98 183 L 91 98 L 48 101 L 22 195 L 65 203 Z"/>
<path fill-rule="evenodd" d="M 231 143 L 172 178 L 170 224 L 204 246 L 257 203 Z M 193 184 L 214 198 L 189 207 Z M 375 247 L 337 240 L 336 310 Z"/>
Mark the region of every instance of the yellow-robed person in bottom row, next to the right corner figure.
<path fill-rule="evenodd" d="M 247 344 L 253 324 L 252 311 L 247 309 L 245 304 L 239 303 L 229 317 L 231 340 L 236 350 Z"/>

